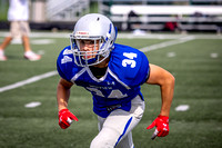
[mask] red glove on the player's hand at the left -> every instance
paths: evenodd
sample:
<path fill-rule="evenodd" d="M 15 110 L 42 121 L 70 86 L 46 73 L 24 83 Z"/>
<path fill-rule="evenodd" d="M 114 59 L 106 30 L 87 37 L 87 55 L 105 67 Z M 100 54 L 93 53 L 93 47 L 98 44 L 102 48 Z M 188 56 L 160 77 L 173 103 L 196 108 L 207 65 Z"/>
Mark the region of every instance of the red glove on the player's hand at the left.
<path fill-rule="evenodd" d="M 63 129 L 68 128 L 72 120 L 78 121 L 78 118 L 69 111 L 69 109 L 62 109 L 59 111 L 59 126 Z"/>

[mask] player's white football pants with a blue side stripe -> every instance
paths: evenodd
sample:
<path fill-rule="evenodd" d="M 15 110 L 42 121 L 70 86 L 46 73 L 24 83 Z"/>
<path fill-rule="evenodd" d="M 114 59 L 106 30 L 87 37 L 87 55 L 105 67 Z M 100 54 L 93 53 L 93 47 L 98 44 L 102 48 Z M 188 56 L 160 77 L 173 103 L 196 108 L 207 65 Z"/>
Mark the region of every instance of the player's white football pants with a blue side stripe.
<path fill-rule="evenodd" d="M 144 101 L 137 96 L 131 101 L 131 110 L 113 110 L 107 118 L 98 116 L 99 134 L 90 148 L 133 148 L 132 129 L 139 124 L 144 112 Z"/>

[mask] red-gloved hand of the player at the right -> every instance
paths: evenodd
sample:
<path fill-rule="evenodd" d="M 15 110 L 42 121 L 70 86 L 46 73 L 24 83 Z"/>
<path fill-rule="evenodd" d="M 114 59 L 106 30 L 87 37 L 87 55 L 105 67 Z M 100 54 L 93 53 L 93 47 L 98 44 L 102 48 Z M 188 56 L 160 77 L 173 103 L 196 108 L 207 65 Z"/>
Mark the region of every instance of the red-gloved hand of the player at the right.
<path fill-rule="evenodd" d="M 153 135 L 151 137 L 152 140 L 157 136 L 158 137 L 167 136 L 170 131 L 170 129 L 169 129 L 169 117 L 159 115 L 158 118 L 155 118 L 155 120 L 150 126 L 148 126 L 147 129 L 151 129 L 153 127 L 157 127 L 157 128 L 155 128 L 155 131 L 153 132 Z"/>

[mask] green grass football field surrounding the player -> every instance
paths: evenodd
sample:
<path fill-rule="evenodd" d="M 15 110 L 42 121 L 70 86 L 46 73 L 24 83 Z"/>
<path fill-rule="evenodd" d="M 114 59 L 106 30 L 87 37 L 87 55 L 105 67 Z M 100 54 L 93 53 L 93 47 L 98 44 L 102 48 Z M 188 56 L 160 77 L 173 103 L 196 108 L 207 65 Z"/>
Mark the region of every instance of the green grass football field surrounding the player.
<path fill-rule="evenodd" d="M 168 69 L 176 81 L 170 135 L 155 140 L 150 139 L 154 129 L 145 128 L 159 115 L 160 89 L 157 86 L 142 86 L 147 109 L 141 122 L 133 130 L 135 148 L 222 147 L 222 38 L 215 34 L 192 36 L 196 38 L 145 52 L 151 63 Z M 120 38 L 117 42 L 141 49 L 180 38 L 158 37 Z M 8 61 L 0 62 L 0 89 L 56 70 L 57 57 L 64 46 L 69 46 L 69 39 L 42 36 L 32 37 L 31 41 L 43 39 L 53 42 L 31 45 L 33 51 L 43 53 L 40 61 L 23 59 L 21 45 L 7 48 Z M 0 41 L 2 40 L 3 37 L 0 37 Z M 79 121 L 65 130 L 60 129 L 56 100 L 59 78 L 56 75 L 0 92 L 1 148 L 89 148 L 98 134 L 91 96 L 83 88 L 72 88 L 69 109 Z M 41 106 L 24 107 L 33 101 L 41 102 Z M 175 111 L 180 105 L 188 105 L 190 108 Z"/>

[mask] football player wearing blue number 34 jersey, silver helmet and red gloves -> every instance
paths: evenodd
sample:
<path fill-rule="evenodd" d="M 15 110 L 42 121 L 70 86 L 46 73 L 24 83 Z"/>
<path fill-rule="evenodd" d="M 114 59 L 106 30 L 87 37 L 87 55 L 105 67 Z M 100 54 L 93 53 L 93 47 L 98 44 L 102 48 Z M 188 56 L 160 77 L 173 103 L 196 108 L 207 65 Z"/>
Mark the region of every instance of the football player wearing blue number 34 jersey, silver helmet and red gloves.
<path fill-rule="evenodd" d="M 117 29 L 107 17 L 87 14 L 77 22 L 70 36 L 71 46 L 60 52 L 57 61 L 61 76 L 57 90 L 61 128 L 78 121 L 68 109 L 70 88 L 81 86 L 92 93 L 99 134 L 90 148 L 134 147 L 132 129 L 144 112 L 144 99 L 140 91 L 143 83 L 161 88 L 160 115 L 148 127 L 157 127 L 152 138 L 169 134 L 174 77 L 149 63 L 141 51 L 114 43 L 115 38 Z"/>

